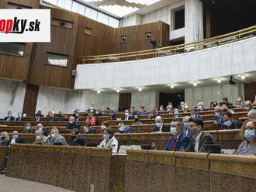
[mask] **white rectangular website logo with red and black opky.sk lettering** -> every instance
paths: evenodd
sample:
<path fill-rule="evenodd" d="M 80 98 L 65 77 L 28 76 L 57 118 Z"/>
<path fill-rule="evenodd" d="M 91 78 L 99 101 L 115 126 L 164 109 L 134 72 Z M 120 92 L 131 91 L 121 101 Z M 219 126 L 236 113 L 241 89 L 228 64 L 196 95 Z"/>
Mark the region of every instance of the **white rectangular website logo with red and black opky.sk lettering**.
<path fill-rule="evenodd" d="M 0 9 L 0 42 L 50 42 L 50 9 Z"/>

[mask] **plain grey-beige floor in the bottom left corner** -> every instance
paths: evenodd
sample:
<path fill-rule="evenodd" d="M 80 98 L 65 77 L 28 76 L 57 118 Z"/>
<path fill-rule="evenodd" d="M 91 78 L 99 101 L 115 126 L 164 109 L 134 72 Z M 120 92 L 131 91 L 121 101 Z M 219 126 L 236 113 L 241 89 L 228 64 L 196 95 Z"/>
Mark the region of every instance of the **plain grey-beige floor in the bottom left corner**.
<path fill-rule="evenodd" d="M 43 183 L 36 183 L 29 180 L 19 180 L 12 177 L 0 175 L 1 192 L 71 192 L 61 187 L 55 187 Z"/>

